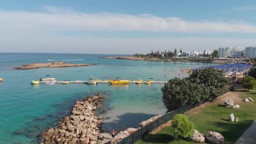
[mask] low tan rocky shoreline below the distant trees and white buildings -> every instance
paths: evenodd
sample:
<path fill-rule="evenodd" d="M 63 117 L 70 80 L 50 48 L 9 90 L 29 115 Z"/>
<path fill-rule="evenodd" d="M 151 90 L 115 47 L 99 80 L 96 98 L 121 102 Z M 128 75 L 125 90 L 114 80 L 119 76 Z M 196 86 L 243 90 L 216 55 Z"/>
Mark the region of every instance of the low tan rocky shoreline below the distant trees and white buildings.
<path fill-rule="evenodd" d="M 191 61 L 191 62 L 204 62 L 204 63 L 215 63 L 215 64 L 229 64 L 237 62 L 235 60 L 211 60 L 208 59 L 196 59 L 196 58 L 137 58 L 133 56 L 106 56 L 98 57 L 101 59 L 123 59 L 123 60 L 137 60 L 137 61 Z"/>

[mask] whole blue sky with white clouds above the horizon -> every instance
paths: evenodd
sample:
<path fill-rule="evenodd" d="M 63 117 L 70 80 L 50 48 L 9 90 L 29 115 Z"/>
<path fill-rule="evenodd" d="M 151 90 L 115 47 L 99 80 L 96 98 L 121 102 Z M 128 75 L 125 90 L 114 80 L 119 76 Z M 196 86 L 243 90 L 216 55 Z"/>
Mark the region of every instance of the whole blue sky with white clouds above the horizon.
<path fill-rule="evenodd" d="M 256 46 L 254 0 L 0 0 L 0 52 Z"/>

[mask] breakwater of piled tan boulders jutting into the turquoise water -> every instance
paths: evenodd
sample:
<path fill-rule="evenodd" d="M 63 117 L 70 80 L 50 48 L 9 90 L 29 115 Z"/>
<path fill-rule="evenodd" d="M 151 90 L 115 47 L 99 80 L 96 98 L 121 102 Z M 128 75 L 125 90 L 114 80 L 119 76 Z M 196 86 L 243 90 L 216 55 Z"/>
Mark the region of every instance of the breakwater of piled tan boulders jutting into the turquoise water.
<path fill-rule="evenodd" d="M 58 128 L 50 128 L 41 135 L 41 144 L 96 144 L 103 139 L 100 127 L 103 118 L 95 115 L 104 97 L 95 96 L 76 101 L 72 115 L 64 117 Z"/>

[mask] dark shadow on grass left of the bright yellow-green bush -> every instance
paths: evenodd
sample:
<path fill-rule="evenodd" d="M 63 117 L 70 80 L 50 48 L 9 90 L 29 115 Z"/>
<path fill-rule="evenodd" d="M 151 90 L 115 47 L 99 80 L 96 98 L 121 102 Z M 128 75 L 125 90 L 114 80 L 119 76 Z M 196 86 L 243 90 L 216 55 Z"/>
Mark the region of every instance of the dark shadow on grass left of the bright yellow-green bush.
<path fill-rule="evenodd" d="M 174 140 L 174 136 L 168 134 L 147 134 L 142 141 L 151 143 L 168 143 Z"/>

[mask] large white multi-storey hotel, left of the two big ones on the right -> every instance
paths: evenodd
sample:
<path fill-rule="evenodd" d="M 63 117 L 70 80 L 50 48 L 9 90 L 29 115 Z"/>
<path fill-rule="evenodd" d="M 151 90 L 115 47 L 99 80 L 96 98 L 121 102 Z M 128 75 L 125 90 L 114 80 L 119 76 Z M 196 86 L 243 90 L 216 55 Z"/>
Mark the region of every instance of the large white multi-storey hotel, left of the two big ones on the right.
<path fill-rule="evenodd" d="M 220 58 L 240 58 L 242 57 L 242 51 L 240 47 L 226 47 L 219 48 Z"/>

